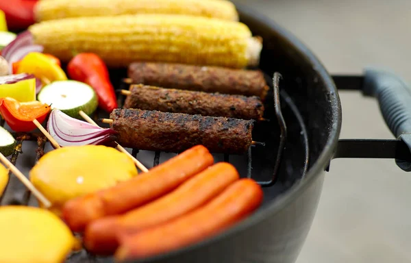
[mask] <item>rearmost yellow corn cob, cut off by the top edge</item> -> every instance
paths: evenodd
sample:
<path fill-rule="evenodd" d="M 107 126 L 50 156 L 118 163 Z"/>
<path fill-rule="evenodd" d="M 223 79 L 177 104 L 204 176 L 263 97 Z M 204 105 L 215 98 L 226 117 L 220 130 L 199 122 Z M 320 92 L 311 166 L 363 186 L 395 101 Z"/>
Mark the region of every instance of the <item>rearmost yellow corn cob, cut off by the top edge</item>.
<path fill-rule="evenodd" d="M 228 0 L 42 0 L 34 14 L 37 21 L 121 14 L 190 14 L 238 21 L 236 7 Z"/>

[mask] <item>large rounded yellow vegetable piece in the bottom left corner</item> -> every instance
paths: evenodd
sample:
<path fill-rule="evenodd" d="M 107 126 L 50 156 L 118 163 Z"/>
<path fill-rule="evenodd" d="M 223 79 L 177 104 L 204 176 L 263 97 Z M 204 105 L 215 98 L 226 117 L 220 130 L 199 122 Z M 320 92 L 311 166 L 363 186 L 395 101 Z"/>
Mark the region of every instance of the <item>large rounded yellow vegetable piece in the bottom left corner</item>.
<path fill-rule="evenodd" d="M 69 227 L 41 208 L 0 207 L 0 233 L 0 262 L 64 262 L 76 245 Z"/>

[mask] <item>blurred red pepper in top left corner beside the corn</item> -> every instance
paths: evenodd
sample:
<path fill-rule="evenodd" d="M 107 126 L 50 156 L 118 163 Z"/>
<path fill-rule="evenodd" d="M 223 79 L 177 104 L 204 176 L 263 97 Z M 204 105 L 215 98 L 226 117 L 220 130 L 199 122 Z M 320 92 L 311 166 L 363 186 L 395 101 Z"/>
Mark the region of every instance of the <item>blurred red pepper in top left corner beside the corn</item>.
<path fill-rule="evenodd" d="M 33 25 L 34 5 L 38 0 L 1 0 L 0 10 L 5 14 L 5 21 L 9 31 L 26 29 L 29 25 Z"/>

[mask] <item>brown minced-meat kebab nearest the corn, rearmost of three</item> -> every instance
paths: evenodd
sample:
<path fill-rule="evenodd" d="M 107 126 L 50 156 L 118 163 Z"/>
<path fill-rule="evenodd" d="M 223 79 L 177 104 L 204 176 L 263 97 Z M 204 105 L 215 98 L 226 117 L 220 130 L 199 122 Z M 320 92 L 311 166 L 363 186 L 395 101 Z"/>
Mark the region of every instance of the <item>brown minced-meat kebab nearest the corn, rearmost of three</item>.
<path fill-rule="evenodd" d="M 264 100 L 269 86 L 262 71 L 219 66 L 134 62 L 128 76 L 134 84 L 258 96 Z"/>

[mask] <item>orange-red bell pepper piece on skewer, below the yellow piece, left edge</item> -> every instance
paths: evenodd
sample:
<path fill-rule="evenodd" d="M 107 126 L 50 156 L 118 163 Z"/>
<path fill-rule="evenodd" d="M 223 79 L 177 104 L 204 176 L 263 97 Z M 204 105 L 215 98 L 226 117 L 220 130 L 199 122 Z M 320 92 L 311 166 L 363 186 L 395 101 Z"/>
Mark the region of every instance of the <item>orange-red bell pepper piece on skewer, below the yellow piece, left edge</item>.
<path fill-rule="evenodd" d="M 40 101 L 18 102 L 7 97 L 0 99 L 0 112 L 14 132 L 31 132 L 36 129 L 33 121 L 45 121 L 50 106 Z"/>

